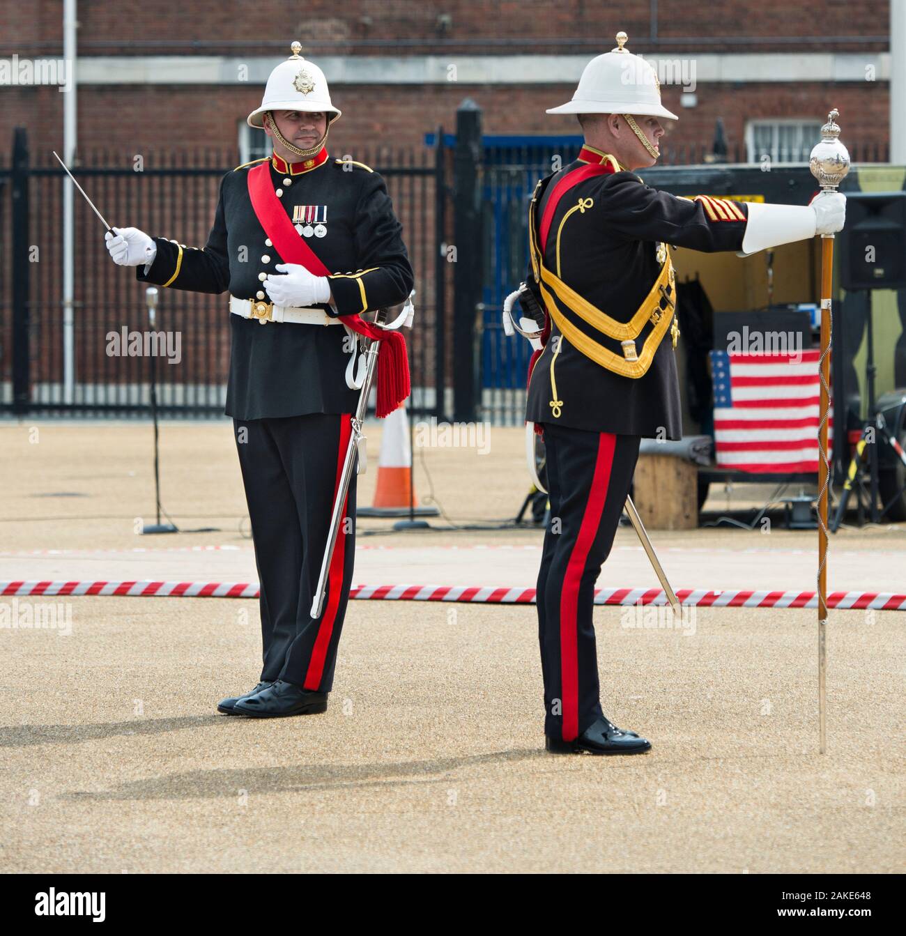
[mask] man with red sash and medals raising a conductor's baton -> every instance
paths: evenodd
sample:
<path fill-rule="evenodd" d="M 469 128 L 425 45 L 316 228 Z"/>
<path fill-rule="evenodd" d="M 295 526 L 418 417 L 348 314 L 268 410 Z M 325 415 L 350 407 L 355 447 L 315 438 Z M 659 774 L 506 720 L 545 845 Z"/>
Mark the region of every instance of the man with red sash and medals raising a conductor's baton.
<path fill-rule="evenodd" d="M 341 112 L 299 51 L 293 43 L 248 118 L 273 140 L 273 155 L 224 176 L 203 248 L 137 228 L 107 235 L 113 259 L 139 267 L 141 282 L 230 292 L 226 411 L 252 522 L 264 662 L 255 689 L 217 708 L 252 717 L 327 709 L 352 580 L 355 474 L 324 608 L 317 619 L 309 612 L 361 381 L 347 323 L 401 303 L 413 286 L 383 179 L 328 157 Z"/>

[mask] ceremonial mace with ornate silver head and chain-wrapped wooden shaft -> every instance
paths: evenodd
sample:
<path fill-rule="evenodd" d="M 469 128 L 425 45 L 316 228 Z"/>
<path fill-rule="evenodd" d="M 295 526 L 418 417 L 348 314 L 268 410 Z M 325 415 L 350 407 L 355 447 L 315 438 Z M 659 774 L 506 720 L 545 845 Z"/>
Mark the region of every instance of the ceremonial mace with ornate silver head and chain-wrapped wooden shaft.
<path fill-rule="evenodd" d="M 809 168 L 823 192 L 836 192 L 849 172 L 850 158 L 840 142 L 840 127 L 834 123 L 839 110 L 827 114 L 821 142 L 811 151 Z M 819 751 L 827 752 L 827 489 L 830 462 L 827 460 L 827 409 L 830 402 L 830 348 L 832 344 L 830 294 L 834 283 L 834 235 L 821 235 L 821 409 L 818 422 L 818 731 Z"/>

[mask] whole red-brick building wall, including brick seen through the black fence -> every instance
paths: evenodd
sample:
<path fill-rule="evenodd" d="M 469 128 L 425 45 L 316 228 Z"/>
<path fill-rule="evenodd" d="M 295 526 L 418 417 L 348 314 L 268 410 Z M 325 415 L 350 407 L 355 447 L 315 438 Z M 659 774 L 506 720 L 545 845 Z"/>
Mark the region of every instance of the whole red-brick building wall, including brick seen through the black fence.
<path fill-rule="evenodd" d="M 679 56 L 701 52 L 814 52 L 884 51 L 885 39 L 856 41 L 860 37 L 885 37 L 888 32 L 887 2 L 823 0 L 796 7 L 789 0 L 762 0 L 746 7 L 736 0 L 710 3 L 683 3 L 660 0 L 657 22 L 650 21 L 646 3 L 611 3 L 606 9 L 599 0 L 564 0 L 557 5 L 529 0 L 487 0 L 484 3 L 447 0 L 444 3 L 414 4 L 410 0 L 311 0 L 304 6 L 296 0 L 196 0 L 191 5 L 168 7 L 166 16 L 149 16 L 147 6 L 138 0 L 117 4 L 79 5 L 80 55 L 229 55 L 273 56 L 274 63 L 288 52 L 294 38 L 303 42 L 306 54 L 315 61 L 321 54 L 458 54 L 492 55 L 536 52 L 593 54 L 613 45 L 613 34 L 624 29 L 632 51 L 647 57 Z M 441 28 L 439 17 L 449 14 L 450 25 Z M 16 53 L 25 56 L 62 54 L 62 3 L 37 0 L 30 5 L 0 3 L 0 58 Z M 848 37 L 848 41 L 810 42 L 810 37 Z M 765 42 L 764 39 L 776 41 Z M 678 41 L 678 40 L 688 41 Z M 794 41 L 781 41 L 793 39 Z M 762 40 L 762 41 L 759 41 Z M 171 85 L 129 85 L 110 87 L 86 85 L 79 91 L 79 143 L 82 151 L 107 151 L 111 163 L 126 165 L 134 154 L 142 154 L 146 165 L 160 165 L 162 154 L 179 150 L 190 165 L 205 157 L 212 164 L 238 162 L 237 125 L 260 103 L 262 87 L 226 85 L 199 87 Z M 427 86 L 335 86 L 335 103 L 343 109 L 343 119 L 331 130 L 332 154 L 352 154 L 354 158 L 380 165 L 374 156 L 379 146 L 396 151 L 419 151 L 426 133 L 443 124 L 453 132 L 460 102 L 473 98 L 484 110 L 488 134 L 577 134 L 574 118 L 551 116 L 545 109 L 563 103 L 573 93 L 572 85 L 549 84 L 532 87 L 476 86 L 452 82 Z M 888 130 L 888 86 L 886 82 L 826 83 L 701 83 L 696 89 L 697 106 L 679 106 L 679 89 L 665 86 L 664 103 L 679 114 L 679 124 L 671 129 L 668 148 L 709 146 L 714 124 L 723 118 L 725 136 L 731 148 L 744 142 L 746 121 L 754 118 L 797 117 L 823 119 L 830 107 L 840 110 L 840 124 L 847 144 L 885 144 Z M 51 149 L 63 142 L 64 95 L 56 88 L 0 87 L 0 165 L 6 164 L 12 129 L 28 129 L 33 157 L 51 165 Z M 216 152 L 215 152 L 216 151 Z M 160 156 L 158 154 L 161 154 Z M 398 161 L 399 154 L 393 161 Z M 45 185 L 51 183 L 44 183 Z M 54 185 L 59 182 L 54 180 Z M 96 183 L 89 186 L 99 202 L 107 195 Z M 174 204 L 161 186 L 137 183 L 135 200 L 110 197 L 122 207 L 122 217 L 114 224 L 145 226 L 152 233 L 178 237 L 185 242 L 202 243 L 213 215 L 216 184 L 199 183 L 197 193 Z M 56 197 L 37 184 L 33 191 L 33 212 L 40 212 L 38 197 Z M 140 193 L 146 192 L 145 197 Z M 152 197 L 152 192 L 156 193 Z M 391 182 L 391 192 L 403 217 L 407 241 L 416 262 L 422 303 L 432 294 L 433 245 L 432 202 L 417 216 L 409 212 L 402 183 Z M 155 200 L 156 199 L 156 200 Z M 58 202 L 57 202 L 58 204 Z M 34 355 L 36 376 L 51 378 L 57 373 L 59 355 L 59 266 L 60 218 L 42 215 L 42 227 L 31 238 L 41 248 L 41 263 L 33 274 L 33 315 L 46 328 L 36 336 Z M 91 371 L 91 346 L 103 341 L 106 323 L 111 320 L 139 327 L 142 321 L 143 289 L 130 273 L 115 276 L 103 250 L 93 216 L 78 210 L 80 227 L 77 241 L 86 269 L 80 271 L 80 298 L 90 313 L 80 314 L 85 322 L 77 336 L 80 374 Z M 407 212 L 409 214 L 407 215 Z M 119 214 L 118 209 L 118 214 Z M 5 222 L 7 223 L 7 222 Z M 416 229 L 417 225 L 417 229 Z M 5 238 L 6 230 L 0 232 Z M 84 245 L 90 243 L 91 247 Z M 7 252 L 8 257 L 8 252 Z M 2 301 L 2 297 L 0 297 Z M 226 328 L 222 301 L 183 294 L 167 298 L 167 307 L 179 307 L 187 325 L 186 342 L 195 344 L 188 325 L 200 329 Z M 95 318 L 89 318 L 88 315 Z M 8 319 L 6 319 L 8 324 Z M 426 339 L 429 343 L 431 337 Z M 431 354 L 431 344 L 423 349 Z M 205 366 L 223 373 L 226 346 L 211 350 L 214 359 Z M 0 372 L 8 366 L 8 345 L 0 336 Z M 430 359 L 430 358 L 429 358 Z M 194 353 L 180 366 L 180 379 L 195 376 L 199 356 Z M 174 371 L 177 369 L 173 369 Z M 120 373 L 120 372 L 116 372 Z M 127 379 L 125 374 L 119 379 Z M 175 376 L 175 374 L 174 374 Z M 421 376 L 421 375 L 419 375 Z M 114 373 L 107 379 L 115 381 Z"/>

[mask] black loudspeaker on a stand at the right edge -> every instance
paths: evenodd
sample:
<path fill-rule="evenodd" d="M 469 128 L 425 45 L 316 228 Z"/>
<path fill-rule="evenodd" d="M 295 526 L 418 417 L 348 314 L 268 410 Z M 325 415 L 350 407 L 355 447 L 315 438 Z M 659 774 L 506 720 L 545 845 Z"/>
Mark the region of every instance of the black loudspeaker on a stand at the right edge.
<path fill-rule="evenodd" d="M 906 287 L 906 192 L 844 192 L 840 285 L 854 289 Z"/>

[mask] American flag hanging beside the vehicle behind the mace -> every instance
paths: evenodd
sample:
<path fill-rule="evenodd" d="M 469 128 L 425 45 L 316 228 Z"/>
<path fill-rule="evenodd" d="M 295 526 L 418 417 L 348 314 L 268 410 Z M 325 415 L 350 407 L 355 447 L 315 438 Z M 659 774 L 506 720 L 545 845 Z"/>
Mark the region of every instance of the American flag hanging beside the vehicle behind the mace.
<path fill-rule="evenodd" d="M 714 448 L 720 468 L 759 474 L 818 471 L 819 351 L 711 351 Z M 827 417 L 830 451 L 831 417 Z"/>

